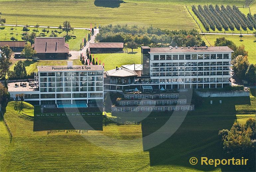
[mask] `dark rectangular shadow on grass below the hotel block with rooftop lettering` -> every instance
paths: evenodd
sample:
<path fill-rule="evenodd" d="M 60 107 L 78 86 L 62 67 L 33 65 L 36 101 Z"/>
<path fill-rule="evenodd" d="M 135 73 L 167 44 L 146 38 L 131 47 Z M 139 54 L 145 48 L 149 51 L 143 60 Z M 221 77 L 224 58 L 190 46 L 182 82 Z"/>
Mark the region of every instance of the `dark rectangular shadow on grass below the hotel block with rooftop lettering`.
<path fill-rule="evenodd" d="M 40 116 L 34 117 L 33 131 L 45 130 L 99 130 L 102 131 L 102 115 L 96 116 Z"/>

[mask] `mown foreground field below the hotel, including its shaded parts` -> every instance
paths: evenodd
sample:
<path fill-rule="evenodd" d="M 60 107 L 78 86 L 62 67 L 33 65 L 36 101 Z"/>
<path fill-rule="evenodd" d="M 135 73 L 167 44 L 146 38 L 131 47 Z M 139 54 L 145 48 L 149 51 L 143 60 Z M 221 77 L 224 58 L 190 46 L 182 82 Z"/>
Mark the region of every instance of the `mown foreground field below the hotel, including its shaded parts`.
<path fill-rule="evenodd" d="M 222 104 L 218 103 L 220 99 Z M 252 101 L 255 105 L 255 99 L 202 99 L 202 104 L 187 114 L 170 138 L 148 150 L 145 148 L 154 138 L 149 141 L 144 137 L 168 123 L 171 113 L 152 113 L 145 118 L 142 113 L 131 114 L 125 117 L 126 120 L 142 122 L 139 125 L 107 125 L 101 130 L 76 128 L 81 129 L 79 134 L 79 130 L 69 128 L 70 121 L 77 117 L 69 120 L 65 117 L 28 117 L 21 112 L 28 113 L 26 108 L 32 109 L 32 106 L 26 104 L 20 111 L 19 103 L 9 102 L 4 116 L 13 138 L 9 143 L 9 135 L 1 121 L 0 167 L 2 171 L 226 171 L 228 169 L 223 167 L 192 166 L 189 159 L 192 156 L 221 157 L 218 131 L 230 129 L 235 120 L 247 118 L 249 111 L 255 112 L 248 108 Z M 247 112 L 244 116 L 236 117 L 238 104 L 248 104 L 243 109 Z M 90 117 L 84 120 L 101 123 Z M 158 136 L 167 135 L 170 128 Z"/>

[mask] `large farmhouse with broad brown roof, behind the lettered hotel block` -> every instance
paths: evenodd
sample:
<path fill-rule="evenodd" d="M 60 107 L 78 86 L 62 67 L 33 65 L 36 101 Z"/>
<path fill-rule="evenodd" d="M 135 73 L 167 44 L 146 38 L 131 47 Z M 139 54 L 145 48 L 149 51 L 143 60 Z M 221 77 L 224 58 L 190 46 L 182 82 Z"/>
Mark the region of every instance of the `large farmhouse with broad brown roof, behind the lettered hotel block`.
<path fill-rule="evenodd" d="M 39 59 L 68 59 L 69 46 L 64 37 L 36 37 L 34 49 Z"/>

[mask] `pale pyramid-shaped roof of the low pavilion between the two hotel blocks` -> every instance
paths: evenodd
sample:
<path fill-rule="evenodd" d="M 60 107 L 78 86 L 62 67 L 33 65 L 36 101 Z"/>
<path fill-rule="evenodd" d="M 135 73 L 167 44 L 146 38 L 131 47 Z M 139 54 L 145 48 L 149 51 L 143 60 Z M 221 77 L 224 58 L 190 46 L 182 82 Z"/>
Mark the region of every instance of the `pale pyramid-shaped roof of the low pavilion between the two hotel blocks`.
<path fill-rule="evenodd" d="M 129 70 L 124 67 L 118 67 L 117 69 L 112 69 L 106 71 L 107 76 L 116 76 L 116 77 L 128 77 L 128 76 L 137 76 L 137 73 L 134 70 Z"/>

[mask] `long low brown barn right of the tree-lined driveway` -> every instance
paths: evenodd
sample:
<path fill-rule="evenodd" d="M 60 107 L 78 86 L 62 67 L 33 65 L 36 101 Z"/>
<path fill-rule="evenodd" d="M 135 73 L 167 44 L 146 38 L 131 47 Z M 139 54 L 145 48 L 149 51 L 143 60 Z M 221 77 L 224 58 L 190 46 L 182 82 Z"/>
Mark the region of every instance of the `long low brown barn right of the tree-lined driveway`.
<path fill-rule="evenodd" d="M 123 52 L 124 43 L 90 43 L 89 48 L 92 54 L 96 53 L 118 53 Z"/>

